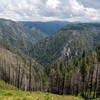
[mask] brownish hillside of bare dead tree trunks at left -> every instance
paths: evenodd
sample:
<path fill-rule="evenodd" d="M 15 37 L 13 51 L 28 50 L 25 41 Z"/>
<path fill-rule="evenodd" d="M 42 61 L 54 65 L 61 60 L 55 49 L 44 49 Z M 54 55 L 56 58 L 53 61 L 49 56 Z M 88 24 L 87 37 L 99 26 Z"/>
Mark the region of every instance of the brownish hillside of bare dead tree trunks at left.
<path fill-rule="evenodd" d="M 44 88 L 46 75 L 42 66 L 32 58 L 0 48 L 0 79 L 22 90 L 38 91 Z"/>

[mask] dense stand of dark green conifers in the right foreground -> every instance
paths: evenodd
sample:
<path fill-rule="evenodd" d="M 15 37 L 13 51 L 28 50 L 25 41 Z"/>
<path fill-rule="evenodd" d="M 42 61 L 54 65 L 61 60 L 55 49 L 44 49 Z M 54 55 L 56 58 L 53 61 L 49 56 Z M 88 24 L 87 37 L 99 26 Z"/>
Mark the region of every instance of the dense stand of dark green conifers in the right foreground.
<path fill-rule="evenodd" d="M 80 58 L 56 61 L 46 71 L 49 92 L 81 95 L 85 99 L 100 96 L 100 46 L 89 56 L 83 51 Z"/>

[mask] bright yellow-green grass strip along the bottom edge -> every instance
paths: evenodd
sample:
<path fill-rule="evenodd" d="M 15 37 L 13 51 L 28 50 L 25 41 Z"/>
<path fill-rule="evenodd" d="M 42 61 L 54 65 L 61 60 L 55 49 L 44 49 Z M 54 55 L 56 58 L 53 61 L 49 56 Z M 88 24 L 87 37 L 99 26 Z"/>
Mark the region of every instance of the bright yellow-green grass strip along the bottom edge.
<path fill-rule="evenodd" d="M 19 90 L 0 90 L 0 100 L 83 100 L 74 96 L 59 96 L 41 92 L 23 92 Z"/>

